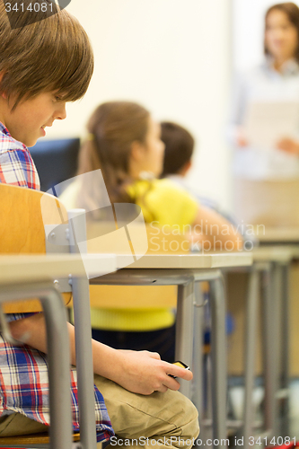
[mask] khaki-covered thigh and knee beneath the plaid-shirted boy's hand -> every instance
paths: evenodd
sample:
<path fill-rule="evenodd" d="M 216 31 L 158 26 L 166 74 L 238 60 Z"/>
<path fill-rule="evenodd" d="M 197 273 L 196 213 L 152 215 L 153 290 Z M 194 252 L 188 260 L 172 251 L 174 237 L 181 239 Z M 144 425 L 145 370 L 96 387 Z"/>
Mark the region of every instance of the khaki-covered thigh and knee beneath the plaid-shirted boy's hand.
<path fill-rule="evenodd" d="M 100 375 L 94 376 L 94 382 L 104 397 L 117 435 L 198 435 L 198 410 L 180 392 L 168 390 L 145 396 L 128 392 Z"/>

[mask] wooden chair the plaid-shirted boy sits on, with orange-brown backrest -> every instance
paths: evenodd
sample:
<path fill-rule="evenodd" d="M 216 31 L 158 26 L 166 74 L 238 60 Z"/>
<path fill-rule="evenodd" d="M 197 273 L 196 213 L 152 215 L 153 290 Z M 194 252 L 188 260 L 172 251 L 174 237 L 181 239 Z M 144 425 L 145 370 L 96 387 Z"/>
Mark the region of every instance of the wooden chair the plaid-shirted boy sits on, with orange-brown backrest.
<path fill-rule="evenodd" d="M 42 206 L 42 207 L 41 207 Z M 11 185 L 0 184 L 0 253 L 11 253 L 11 254 L 21 254 L 21 253 L 46 253 L 46 238 L 45 238 L 45 225 L 67 225 L 67 213 L 65 207 L 57 200 L 57 198 L 51 195 L 44 194 L 43 192 L 23 189 L 19 187 L 14 187 Z M 53 245 L 54 247 L 54 245 Z M 57 252 L 59 251 L 57 247 Z M 66 251 L 69 251 L 67 249 Z M 80 283 L 79 279 L 74 279 L 74 281 Z M 74 299 L 78 299 L 78 289 L 75 287 L 75 282 L 73 281 L 73 294 Z M 86 284 L 87 283 L 87 284 Z M 76 284 L 77 286 L 78 284 Z M 83 284 L 80 284 L 82 294 L 82 286 L 85 289 L 85 295 L 88 295 L 88 280 L 83 279 Z M 87 293 L 86 293 L 87 286 Z M 65 303 L 69 303 L 72 293 L 67 292 L 64 295 Z M 88 303 L 87 303 L 88 304 Z M 18 303 L 4 304 L 5 313 L 29 313 L 29 312 L 40 312 L 41 305 L 37 298 L 32 298 L 29 301 L 22 301 Z M 89 313 L 89 308 L 88 308 Z M 78 318 L 78 323 L 80 319 Z M 86 322 L 86 321 L 85 321 Z M 77 330 L 75 329 L 77 332 Z M 79 335 L 83 338 L 82 335 Z M 79 338 L 78 337 L 78 338 Z M 77 336 L 76 336 L 77 339 Z M 90 344 L 90 356 L 92 354 L 91 348 L 91 332 L 87 335 L 84 334 L 84 340 L 88 341 Z M 88 348 L 89 349 L 89 348 Z M 76 345 L 77 352 L 77 345 Z M 88 351 L 87 351 L 88 352 Z M 94 392 L 93 392 L 93 377 L 91 379 L 91 370 L 87 365 L 85 365 L 82 354 L 77 354 L 77 371 L 78 377 L 81 376 L 81 384 L 84 385 L 84 394 L 79 391 L 79 406 L 86 406 L 86 401 L 84 402 L 81 398 L 88 396 L 88 400 L 92 398 L 92 403 L 94 402 Z M 80 365 L 81 364 L 81 365 Z M 1 367 L 0 367 L 1 368 Z M 79 373 L 80 368 L 80 373 Z M 88 372 L 87 376 L 86 373 Z M 69 374 L 68 374 L 69 377 Z M 92 382 L 89 382 L 92 381 Z M 89 382 L 89 383 L 88 383 Z M 88 383 L 88 384 L 87 384 Z M 86 392 L 87 385 L 87 392 Z M 91 410 L 90 406 L 89 411 Z M 88 409 L 87 407 L 87 409 Z M 55 412 L 55 410 L 54 410 Z M 86 412 L 86 409 L 84 409 Z M 83 413 L 86 415 L 86 413 Z M 92 406 L 93 414 L 93 424 L 87 424 L 84 427 L 84 447 L 96 447 L 95 443 L 95 426 L 94 426 L 94 408 Z M 90 417 L 91 415 L 89 415 Z M 89 419 L 89 417 L 85 417 Z M 85 421 L 86 421 L 85 419 Z M 52 418 L 51 418 L 52 421 Z M 84 421 L 84 425 L 86 422 Z M 80 418 L 80 425 L 81 425 Z M 94 436 L 94 441 L 92 439 L 91 444 L 86 443 L 89 438 Z M 80 439 L 79 434 L 74 435 L 74 441 Z M 51 442 L 49 442 L 48 435 L 33 435 L 33 436 L 12 436 L 12 437 L 0 437 L 0 447 L 54 447 Z M 60 446 L 59 446 L 60 447 Z M 56 447 L 57 449 L 57 447 Z M 66 448 L 65 448 L 66 449 Z"/>

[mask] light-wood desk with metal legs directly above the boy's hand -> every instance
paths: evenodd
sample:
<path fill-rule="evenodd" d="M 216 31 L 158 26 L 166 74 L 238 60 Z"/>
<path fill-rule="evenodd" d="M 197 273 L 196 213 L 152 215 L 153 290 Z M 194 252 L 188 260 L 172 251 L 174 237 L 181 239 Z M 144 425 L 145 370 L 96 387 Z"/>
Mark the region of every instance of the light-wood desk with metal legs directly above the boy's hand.
<path fill-rule="evenodd" d="M 120 255 L 124 266 L 124 257 Z M 176 358 L 187 365 L 192 364 L 194 284 L 207 281 L 210 284 L 212 311 L 213 353 L 213 436 L 226 438 L 226 334 L 225 295 L 221 269 L 249 267 L 252 255 L 249 252 L 212 254 L 146 254 L 125 269 L 103 277 L 93 278 L 97 285 L 177 285 Z M 202 304 L 198 304 L 202 305 Z M 200 333 L 200 330 L 198 330 Z M 181 381 L 180 391 L 191 396 L 190 383 Z"/>

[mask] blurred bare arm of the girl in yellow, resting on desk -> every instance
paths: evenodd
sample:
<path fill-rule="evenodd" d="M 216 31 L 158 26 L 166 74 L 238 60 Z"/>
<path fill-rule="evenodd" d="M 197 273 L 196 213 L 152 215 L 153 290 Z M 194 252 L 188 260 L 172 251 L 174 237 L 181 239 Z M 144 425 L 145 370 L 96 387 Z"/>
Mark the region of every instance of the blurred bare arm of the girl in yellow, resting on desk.
<path fill-rule="evenodd" d="M 209 207 L 198 207 L 192 225 L 193 240 L 198 238 L 204 250 L 235 251 L 242 249 L 242 235 L 235 227 Z"/>

